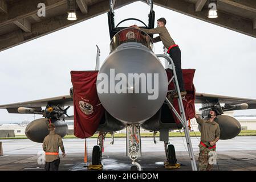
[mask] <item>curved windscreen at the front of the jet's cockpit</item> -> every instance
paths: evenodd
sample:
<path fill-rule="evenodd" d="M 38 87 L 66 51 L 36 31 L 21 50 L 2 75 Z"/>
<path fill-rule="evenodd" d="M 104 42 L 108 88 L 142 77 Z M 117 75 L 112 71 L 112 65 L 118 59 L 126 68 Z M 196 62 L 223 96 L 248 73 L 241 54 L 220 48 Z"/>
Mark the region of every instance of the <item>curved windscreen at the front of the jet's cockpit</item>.
<path fill-rule="evenodd" d="M 152 39 L 147 33 L 137 28 L 125 28 L 113 36 L 110 43 L 110 51 L 112 52 L 120 46 L 120 44 L 127 42 L 141 43 L 152 50 Z"/>

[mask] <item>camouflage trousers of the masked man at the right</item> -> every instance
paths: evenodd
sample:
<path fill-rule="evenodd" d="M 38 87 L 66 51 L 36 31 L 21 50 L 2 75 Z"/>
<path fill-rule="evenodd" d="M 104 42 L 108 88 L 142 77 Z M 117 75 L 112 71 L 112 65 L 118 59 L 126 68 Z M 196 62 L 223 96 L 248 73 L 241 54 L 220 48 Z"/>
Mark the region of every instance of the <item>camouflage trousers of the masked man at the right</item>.
<path fill-rule="evenodd" d="M 208 158 L 208 154 L 210 151 L 216 151 L 216 148 L 206 148 L 204 146 L 202 146 L 201 144 L 199 144 L 198 146 L 200 148 L 200 153 L 199 153 L 199 171 L 212 171 L 213 169 L 213 164 L 209 164 L 209 158 Z"/>

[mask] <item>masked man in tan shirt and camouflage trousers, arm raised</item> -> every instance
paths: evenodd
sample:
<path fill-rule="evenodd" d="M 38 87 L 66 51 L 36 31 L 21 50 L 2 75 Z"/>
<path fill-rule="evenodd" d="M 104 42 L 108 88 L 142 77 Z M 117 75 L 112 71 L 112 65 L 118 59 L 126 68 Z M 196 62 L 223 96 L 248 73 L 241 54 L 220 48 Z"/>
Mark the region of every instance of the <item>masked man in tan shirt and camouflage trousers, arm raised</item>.
<path fill-rule="evenodd" d="M 201 142 L 199 144 L 199 170 L 211 171 L 213 164 L 209 164 L 209 152 L 216 151 L 216 142 L 220 139 L 220 126 L 214 121 L 216 118 L 216 111 L 211 110 L 208 114 L 208 119 L 204 120 L 195 114 L 197 123 L 201 126 Z"/>

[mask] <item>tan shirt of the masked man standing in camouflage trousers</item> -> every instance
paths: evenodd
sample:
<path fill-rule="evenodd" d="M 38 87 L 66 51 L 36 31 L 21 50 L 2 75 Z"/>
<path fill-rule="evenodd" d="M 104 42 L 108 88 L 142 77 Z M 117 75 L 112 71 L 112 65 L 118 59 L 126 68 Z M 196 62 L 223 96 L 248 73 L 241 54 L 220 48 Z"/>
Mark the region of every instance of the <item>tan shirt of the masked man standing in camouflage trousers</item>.
<path fill-rule="evenodd" d="M 210 122 L 201 118 L 196 118 L 197 123 L 201 125 L 201 141 L 202 142 L 212 142 L 217 137 L 220 137 L 221 130 L 218 123 L 215 121 Z"/>

